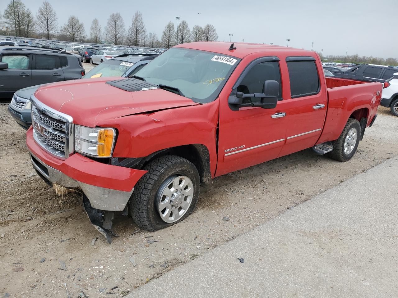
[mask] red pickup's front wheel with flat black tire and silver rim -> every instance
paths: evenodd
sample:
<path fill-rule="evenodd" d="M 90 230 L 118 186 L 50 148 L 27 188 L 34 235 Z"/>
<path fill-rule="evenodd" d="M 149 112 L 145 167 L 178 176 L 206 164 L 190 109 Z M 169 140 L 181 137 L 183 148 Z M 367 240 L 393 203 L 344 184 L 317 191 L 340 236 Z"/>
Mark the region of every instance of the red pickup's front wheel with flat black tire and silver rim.
<path fill-rule="evenodd" d="M 166 155 L 142 170 L 148 172 L 136 184 L 129 202 L 131 216 L 140 228 L 156 231 L 192 213 L 199 197 L 200 178 L 190 161 Z"/>

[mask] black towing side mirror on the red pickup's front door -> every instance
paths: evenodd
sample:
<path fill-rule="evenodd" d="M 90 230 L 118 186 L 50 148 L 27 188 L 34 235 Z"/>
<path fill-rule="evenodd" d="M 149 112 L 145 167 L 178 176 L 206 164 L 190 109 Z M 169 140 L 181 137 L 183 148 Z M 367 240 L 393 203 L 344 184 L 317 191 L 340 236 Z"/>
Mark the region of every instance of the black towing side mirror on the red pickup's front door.
<path fill-rule="evenodd" d="M 236 92 L 228 97 L 228 105 L 233 111 L 239 110 L 244 106 L 259 106 L 261 108 L 275 108 L 278 103 L 279 95 L 279 82 L 273 80 L 267 80 L 263 84 L 262 93 L 243 93 Z M 243 103 L 245 97 L 256 97 L 261 98 L 260 102 L 255 103 Z"/>

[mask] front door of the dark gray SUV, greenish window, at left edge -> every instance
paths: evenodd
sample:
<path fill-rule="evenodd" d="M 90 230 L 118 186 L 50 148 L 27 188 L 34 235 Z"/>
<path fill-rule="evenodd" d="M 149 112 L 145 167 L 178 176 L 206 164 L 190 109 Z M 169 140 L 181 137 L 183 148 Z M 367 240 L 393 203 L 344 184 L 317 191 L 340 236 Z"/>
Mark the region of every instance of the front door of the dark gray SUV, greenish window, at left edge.
<path fill-rule="evenodd" d="M 0 92 L 12 95 L 15 91 L 31 86 L 31 54 L 2 54 L 0 62 L 8 68 L 0 70 Z"/>

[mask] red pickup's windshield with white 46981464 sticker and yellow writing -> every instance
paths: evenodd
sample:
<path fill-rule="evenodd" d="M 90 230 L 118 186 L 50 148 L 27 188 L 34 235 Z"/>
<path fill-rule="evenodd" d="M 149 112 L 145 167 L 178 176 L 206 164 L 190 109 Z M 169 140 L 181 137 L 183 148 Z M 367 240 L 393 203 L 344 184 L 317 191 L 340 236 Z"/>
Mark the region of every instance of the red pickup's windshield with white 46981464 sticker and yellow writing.
<path fill-rule="evenodd" d="M 155 85 L 178 88 L 181 95 L 199 103 L 214 101 L 236 65 L 238 58 L 171 48 L 135 75 Z"/>

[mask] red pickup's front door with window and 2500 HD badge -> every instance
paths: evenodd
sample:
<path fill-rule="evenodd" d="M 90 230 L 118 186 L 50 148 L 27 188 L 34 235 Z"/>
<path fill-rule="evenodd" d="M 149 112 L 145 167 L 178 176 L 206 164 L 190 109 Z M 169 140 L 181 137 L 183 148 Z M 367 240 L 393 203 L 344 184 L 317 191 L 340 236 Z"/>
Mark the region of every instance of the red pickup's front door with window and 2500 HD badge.
<path fill-rule="evenodd" d="M 231 94 L 261 93 L 264 81 L 281 86 L 279 59 L 262 57 L 249 64 Z M 281 88 L 276 108 L 244 107 L 232 110 L 228 98 L 220 98 L 219 147 L 216 176 L 275 159 L 285 142 L 286 103 Z M 231 95 L 233 96 L 233 95 Z M 244 98 L 244 103 L 260 101 Z"/>

